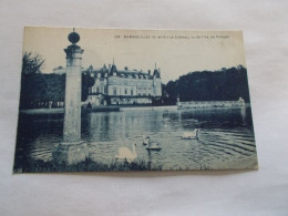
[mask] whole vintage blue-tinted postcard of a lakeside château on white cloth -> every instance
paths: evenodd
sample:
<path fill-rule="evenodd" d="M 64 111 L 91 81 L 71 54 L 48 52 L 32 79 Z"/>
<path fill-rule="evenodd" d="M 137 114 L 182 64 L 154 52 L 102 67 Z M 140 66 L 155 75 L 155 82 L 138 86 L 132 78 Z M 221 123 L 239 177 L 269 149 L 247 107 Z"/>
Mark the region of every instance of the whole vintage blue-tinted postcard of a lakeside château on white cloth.
<path fill-rule="evenodd" d="M 24 28 L 14 173 L 257 167 L 240 31 Z"/>

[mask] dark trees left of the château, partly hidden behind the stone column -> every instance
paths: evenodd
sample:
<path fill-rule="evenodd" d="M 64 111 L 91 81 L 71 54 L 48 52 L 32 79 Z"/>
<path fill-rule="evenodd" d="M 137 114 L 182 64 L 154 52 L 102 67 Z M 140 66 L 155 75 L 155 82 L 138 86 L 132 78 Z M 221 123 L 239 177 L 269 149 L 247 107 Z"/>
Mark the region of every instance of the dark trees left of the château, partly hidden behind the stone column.
<path fill-rule="evenodd" d="M 22 56 L 20 109 L 49 107 L 49 104 L 64 102 L 65 74 L 43 74 L 44 60 L 40 54 L 25 52 Z M 94 79 L 82 74 L 82 101 L 88 99 L 89 88 Z M 53 106 L 53 105 L 52 105 Z"/>

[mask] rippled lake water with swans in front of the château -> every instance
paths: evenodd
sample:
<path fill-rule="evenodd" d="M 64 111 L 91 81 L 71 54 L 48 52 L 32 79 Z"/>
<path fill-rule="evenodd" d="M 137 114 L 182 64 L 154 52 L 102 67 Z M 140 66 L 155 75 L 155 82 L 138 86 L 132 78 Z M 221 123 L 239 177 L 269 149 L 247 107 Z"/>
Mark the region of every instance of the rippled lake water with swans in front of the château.
<path fill-rule="evenodd" d="M 182 140 L 198 128 L 197 140 Z M 16 162 L 50 161 L 62 142 L 63 114 L 19 115 Z M 161 145 L 147 151 L 143 136 Z M 136 144 L 137 157 L 163 165 L 163 169 L 230 169 L 257 167 L 250 106 L 92 112 L 82 114 L 82 140 L 90 157 L 110 164 L 121 147 Z M 17 164 L 17 163 L 16 163 Z"/>

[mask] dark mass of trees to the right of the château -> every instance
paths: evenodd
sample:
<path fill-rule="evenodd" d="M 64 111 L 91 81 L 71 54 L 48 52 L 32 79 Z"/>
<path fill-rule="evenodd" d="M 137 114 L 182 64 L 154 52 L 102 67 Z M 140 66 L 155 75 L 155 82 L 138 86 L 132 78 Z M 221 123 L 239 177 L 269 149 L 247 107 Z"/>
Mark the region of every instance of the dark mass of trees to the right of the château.
<path fill-rule="evenodd" d="M 181 101 L 237 101 L 249 102 L 247 70 L 243 65 L 218 71 L 196 71 L 163 85 L 164 104 Z"/>

